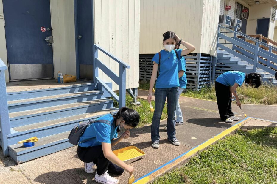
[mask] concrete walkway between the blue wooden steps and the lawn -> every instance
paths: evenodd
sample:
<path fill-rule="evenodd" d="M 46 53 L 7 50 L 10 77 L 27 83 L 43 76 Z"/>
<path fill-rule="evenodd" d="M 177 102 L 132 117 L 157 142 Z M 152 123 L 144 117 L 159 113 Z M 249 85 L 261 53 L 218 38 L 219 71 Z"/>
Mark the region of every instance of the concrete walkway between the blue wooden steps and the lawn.
<path fill-rule="evenodd" d="M 138 91 L 140 98 L 146 98 L 147 94 L 147 91 Z M 180 146 L 172 145 L 166 140 L 167 134 L 164 131 L 166 120 L 163 120 L 160 126 L 159 149 L 151 147 L 150 125 L 132 129 L 129 139 L 124 139 L 113 147 L 119 149 L 134 145 L 146 153 L 144 158 L 133 162 L 135 179 L 147 175 L 236 123 L 222 122 L 214 101 L 181 96 L 179 102 L 184 118 L 184 125 L 176 126 Z M 242 105 L 242 108 L 251 117 L 277 121 L 277 116 L 274 115 L 277 106 Z M 244 118 L 236 105 L 233 105 L 233 109 L 239 117 Z M 255 121 L 257 120 L 253 120 L 252 124 L 255 124 Z M 15 165 L 9 157 L 4 158 L 1 153 L 0 161 L 1 183 L 96 183 L 93 180 L 94 174 L 84 172 L 83 162 L 77 158 L 76 146 L 19 165 Z M 121 176 L 112 176 L 117 177 L 120 183 L 127 183 L 127 172 Z"/>

